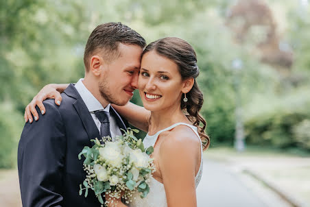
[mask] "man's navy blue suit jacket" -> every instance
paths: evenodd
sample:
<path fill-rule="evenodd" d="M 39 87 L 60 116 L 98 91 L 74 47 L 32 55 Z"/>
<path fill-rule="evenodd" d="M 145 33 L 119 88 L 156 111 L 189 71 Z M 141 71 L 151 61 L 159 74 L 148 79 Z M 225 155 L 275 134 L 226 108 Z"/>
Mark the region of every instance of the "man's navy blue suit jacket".
<path fill-rule="evenodd" d="M 87 206 L 100 203 L 93 191 L 79 195 L 86 173 L 78 154 L 92 146 L 99 131 L 73 84 L 62 93 L 62 103 L 44 101 L 46 113 L 38 121 L 26 123 L 18 149 L 19 184 L 24 207 Z M 39 111 L 38 107 L 36 108 Z M 126 129 L 115 113 L 120 128 Z"/>

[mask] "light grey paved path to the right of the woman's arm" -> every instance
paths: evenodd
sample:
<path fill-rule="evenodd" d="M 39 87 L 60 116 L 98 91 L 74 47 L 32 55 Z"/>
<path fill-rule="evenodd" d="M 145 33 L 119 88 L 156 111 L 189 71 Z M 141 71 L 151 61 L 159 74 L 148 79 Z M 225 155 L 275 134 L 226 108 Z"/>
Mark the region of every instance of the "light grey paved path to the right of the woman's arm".
<path fill-rule="evenodd" d="M 198 207 L 289 206 L 261 189 L 241 172 L 224 162 L 204 160 L 204 173 L 197 188 Z M 271 192 L 272 193 L 272 192 Z"/>

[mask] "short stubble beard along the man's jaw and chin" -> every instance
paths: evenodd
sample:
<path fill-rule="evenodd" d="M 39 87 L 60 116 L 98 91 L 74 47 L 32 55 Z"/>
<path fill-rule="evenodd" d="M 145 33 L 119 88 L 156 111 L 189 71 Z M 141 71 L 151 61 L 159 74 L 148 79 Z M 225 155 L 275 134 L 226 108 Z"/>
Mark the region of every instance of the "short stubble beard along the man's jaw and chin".
<path fill-rule="evenodd" d="M 117 98 L 117 95 L 113 94 L 112 90 L 108 87 L 106 80 L 102 80 L 101 82 L 99 82 L 98 88 L 99 88 L 100 95 L 106 101 L 108 101 L 108 103 L 113 103 L 117 106 L 124 106 L 129 101 L 129 99 L 126 101 L 126 100 L 121 100 L 121 98 Z"/>

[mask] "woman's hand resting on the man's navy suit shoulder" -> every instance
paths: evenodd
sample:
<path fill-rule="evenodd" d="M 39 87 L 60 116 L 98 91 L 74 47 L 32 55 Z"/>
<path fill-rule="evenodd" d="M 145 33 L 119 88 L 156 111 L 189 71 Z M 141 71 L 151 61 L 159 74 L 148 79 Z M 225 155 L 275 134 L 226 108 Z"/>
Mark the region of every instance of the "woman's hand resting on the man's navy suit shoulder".
<path fill-rule="evenodd" d="M 55 99 L 55 103 L 60 106 L 62 101 L 60 92 L 67 88 L 68 85 L 69 84 L 47 84 L 44 86 L 34 97 L 34 99 L 32 99 L 32 101 L 26 106 L 24 113 L 25 122 L 29 121 L 29 123 L 32 123 L 34 120 L 38 121 L 39 116 L 38 112 L 36 111 L 36 106 L 38 106 L 40 109 L 41 114 L 45 114 L 46 111 L 43 105 L 43 101 L 45 99 Z"/>

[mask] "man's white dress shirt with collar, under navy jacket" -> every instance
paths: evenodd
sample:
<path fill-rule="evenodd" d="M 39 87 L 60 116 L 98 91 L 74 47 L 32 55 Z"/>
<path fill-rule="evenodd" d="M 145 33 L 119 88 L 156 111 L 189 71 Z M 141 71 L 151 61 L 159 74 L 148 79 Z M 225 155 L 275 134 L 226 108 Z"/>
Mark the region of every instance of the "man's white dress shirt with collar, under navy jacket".
<path fill-rule="evenodd" d="M 96 110 L 104 110 L 106 112 L 110 111 L 110 103 L 106 108 L 102 106 L 102 104 L 93 96 L 93 94 L 84 86 L 81 78 L 76 84 L 75 89 L 78 90 L 78 93 L 82 97 L 84 103 L 86 104 L 86 107 L 88 108 L 88 111 L 91 113 L 91 117 L 93 117 L 93 120 L 95 121 L 95 124 L 98 128 L 98 131 L 100 132 L 100 121 L 95 115 Z M 117 125 L 116 117 L 114 117 L 114 114 L 110 113 L 110 132 L 111 136 L 115 137 L 117 135 L 121 136 L 121 130 L 119 129 L 119 125 Z M 95 138 L 95 137 L 93 137 Z"/>

